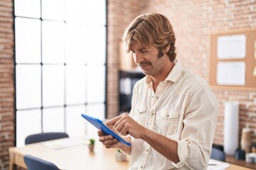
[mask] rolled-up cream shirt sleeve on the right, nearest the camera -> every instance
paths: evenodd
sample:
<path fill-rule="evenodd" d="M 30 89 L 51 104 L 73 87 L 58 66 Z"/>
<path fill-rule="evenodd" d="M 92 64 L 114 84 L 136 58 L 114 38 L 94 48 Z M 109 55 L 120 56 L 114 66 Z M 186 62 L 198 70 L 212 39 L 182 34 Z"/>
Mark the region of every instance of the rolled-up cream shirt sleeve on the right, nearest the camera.
<path fill-rule="evenodd" d="M 217 101 L 208 88 L 201 86 L 189 97 L 184 113 L 181 140 L 178 140 L 176 168 L 207 169 L 218 114 Z"/>

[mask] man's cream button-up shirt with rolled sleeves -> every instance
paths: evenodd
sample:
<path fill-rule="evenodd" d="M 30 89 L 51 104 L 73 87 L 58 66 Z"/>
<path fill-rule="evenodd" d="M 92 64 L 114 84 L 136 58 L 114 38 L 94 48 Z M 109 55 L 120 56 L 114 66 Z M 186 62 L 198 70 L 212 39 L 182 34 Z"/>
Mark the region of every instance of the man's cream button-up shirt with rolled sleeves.
<path fill-rule="evenodd" d="M 207 169 L 218 104 L 207 82 L 176 62 L 154 93 L 151 77 L 137 81 L 130 115 L 144 127 L 178 142 L 175 164 L 132 138 L 129 169 Z"/>

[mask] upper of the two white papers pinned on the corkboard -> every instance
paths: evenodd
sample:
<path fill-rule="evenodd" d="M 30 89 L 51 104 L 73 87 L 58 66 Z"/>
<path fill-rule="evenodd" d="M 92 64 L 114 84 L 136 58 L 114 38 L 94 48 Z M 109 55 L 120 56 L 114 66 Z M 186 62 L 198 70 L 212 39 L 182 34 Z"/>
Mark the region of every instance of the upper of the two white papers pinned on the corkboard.
<path fill-rule="evenodd" d="M 246 55 L 244 34 L 219 36 L 217 40 L 218 59 L 242 59 Z"/>

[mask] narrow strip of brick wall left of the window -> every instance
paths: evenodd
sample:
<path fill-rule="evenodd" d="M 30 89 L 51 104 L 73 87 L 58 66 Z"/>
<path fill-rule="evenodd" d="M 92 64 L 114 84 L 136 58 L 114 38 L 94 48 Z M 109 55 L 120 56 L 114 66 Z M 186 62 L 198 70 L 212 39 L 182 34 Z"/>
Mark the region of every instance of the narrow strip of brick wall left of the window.
<path fill-rule="evenodd" d="M 9 164 L 14 146 L 14 33 L 12 1 L 0 0 L 0 169 Z"/>

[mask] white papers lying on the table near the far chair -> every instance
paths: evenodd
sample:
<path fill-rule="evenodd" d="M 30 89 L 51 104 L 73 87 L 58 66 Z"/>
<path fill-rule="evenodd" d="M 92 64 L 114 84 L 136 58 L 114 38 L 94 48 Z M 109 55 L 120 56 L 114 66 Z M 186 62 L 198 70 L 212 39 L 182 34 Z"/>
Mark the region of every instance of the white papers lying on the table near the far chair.
<path fill-rule="evenodd" d="M 82 139 L 71 139 L 71 138 L 63 138 L 61 140 L 53 140 L 43 142 L 42 145 L 45 147 L 50 147 L 52 149 L 62 149 L 66 147 L 73 147 L 76 145 L 88 145 L 89 141 L 85 141 Z"/>

